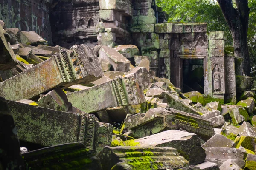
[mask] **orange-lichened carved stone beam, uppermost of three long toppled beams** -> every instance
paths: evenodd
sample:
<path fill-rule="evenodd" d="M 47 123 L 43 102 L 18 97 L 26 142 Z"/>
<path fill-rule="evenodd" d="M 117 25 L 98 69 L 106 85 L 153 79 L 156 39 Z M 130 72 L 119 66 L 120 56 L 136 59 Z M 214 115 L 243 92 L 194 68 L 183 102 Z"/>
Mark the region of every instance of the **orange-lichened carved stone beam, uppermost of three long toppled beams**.
<path fill-rule="evenodd" d="M 95 81 L 103 76 L 91 48 L 74 45 L 50 59 L 0 83 L 0 95 L 9 100 L 32 99 L 56 87 Z"/>

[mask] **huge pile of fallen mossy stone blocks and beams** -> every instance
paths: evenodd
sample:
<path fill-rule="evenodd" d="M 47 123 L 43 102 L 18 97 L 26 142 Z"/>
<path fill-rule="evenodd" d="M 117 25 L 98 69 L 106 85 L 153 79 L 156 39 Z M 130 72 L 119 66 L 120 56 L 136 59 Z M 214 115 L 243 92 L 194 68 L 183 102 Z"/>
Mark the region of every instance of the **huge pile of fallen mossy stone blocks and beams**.
<path fill-rule="evenodd" d="M 206 103 L 156 77 L 135 45 L 50 47 L 0 23 L 1 168 L 256 169 L 249 77 L 236 105 Z"/>

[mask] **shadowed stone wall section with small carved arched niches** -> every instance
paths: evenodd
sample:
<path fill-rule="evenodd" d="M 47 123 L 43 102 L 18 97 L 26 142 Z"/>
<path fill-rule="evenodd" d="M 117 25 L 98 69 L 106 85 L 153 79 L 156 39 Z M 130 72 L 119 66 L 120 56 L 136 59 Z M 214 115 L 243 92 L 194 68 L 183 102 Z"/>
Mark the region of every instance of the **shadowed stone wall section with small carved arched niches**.
<path fill-rule="evenodd" d="M 96 44 L 99 0 L 54 0 L 51 26 L 54 45 Z"/>

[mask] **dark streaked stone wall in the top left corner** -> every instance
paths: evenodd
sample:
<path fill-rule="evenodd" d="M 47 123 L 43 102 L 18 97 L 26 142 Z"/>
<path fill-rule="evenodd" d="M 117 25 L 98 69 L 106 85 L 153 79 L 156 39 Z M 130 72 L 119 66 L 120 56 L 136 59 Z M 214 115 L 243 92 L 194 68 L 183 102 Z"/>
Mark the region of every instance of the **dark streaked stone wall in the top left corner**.
<path fill-rule="evenodd" d="M 52 0 L 0 0 L 0 20 L 4 20 L 7 28 L 35 31 L 51 42 L 51 2 Z"/>

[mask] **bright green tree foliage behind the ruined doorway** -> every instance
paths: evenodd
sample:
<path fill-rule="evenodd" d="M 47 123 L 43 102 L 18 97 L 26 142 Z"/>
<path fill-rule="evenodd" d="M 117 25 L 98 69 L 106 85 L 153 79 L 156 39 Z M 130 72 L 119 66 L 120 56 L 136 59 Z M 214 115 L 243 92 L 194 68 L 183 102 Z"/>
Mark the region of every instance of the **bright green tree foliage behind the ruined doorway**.
<path fill-rule="evenodd" d="M 156 3 L 169 14 L 169 22 L 207 22 L 208 31 L 227 32 L 226 45 L 233 45 L 229 27 L 217 0 L 156 0 Z M 256 64 L 256 1 L 248 0 L 248 3 L 248 47 L 251 63 Z M 236 8 L 235 3 L 233 6 Z"/>

